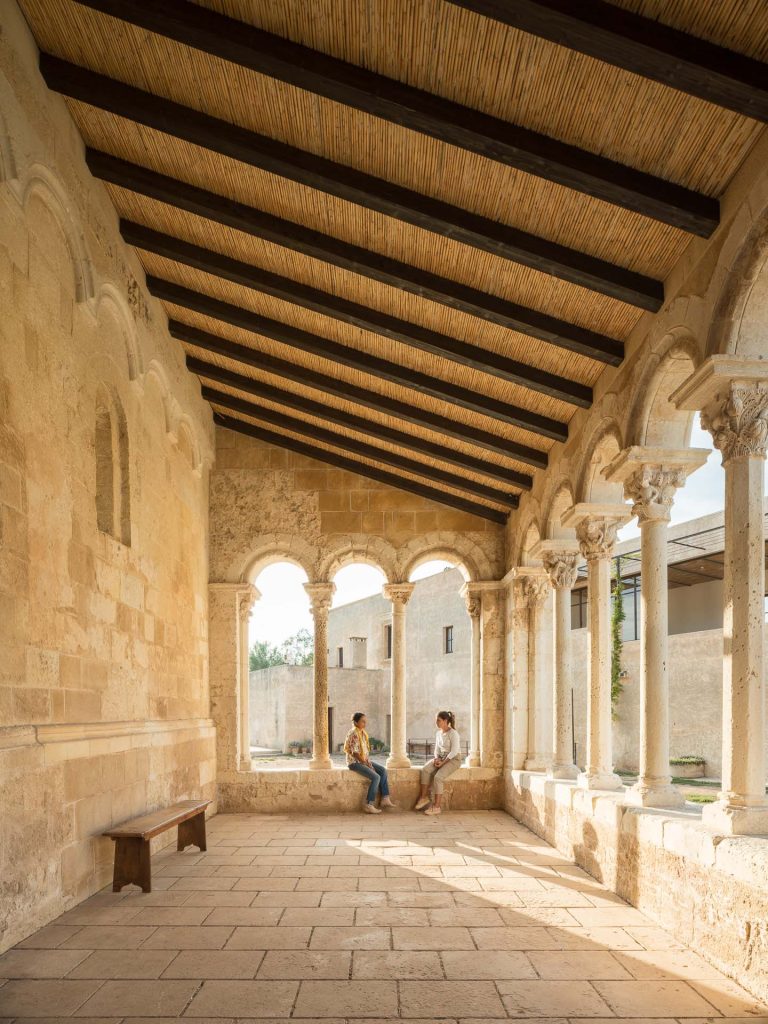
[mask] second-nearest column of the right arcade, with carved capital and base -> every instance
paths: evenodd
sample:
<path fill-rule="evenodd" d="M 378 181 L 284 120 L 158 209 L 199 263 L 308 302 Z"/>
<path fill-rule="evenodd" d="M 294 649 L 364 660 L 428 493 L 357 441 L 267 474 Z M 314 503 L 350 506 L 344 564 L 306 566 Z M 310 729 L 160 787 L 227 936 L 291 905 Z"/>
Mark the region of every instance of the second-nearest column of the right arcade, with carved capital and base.
<path fill-rule="evenodd" d="M 622 452 L 605 471 L 607 479 L 624 483 L 640 525 L 640 776 L 627 794 L 627 802 L 640 807 L 685 803 L 670 772 L 667 529 L 675 492 L 708 455 L 701 449 L 635 446 Z"/>

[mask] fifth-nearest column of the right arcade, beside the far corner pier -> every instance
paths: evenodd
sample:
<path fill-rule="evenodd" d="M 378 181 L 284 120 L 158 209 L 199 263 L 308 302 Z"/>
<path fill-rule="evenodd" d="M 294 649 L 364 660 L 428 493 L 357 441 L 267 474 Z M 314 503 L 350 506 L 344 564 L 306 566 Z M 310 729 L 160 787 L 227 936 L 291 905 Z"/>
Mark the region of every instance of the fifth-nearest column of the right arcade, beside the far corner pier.
<path fill-rule="evenodd" d="M 550 594 L 543 568 L 520 569 L 528 612 L 528 751 L 526 771 L 546 771 L 552 759 L 552 675 L 545 656 L 544 605 Z"/>

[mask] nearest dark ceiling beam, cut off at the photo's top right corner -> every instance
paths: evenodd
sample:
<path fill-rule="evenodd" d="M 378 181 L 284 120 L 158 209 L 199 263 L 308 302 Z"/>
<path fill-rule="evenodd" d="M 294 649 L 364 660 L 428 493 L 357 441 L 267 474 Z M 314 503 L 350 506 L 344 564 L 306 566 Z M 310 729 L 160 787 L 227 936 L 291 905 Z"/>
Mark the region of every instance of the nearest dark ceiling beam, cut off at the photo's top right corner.
<path fill-rule="evenodd" d="M 768 65 L 612 3 L 450 2 L 743 117 L 768 121 Z"/>

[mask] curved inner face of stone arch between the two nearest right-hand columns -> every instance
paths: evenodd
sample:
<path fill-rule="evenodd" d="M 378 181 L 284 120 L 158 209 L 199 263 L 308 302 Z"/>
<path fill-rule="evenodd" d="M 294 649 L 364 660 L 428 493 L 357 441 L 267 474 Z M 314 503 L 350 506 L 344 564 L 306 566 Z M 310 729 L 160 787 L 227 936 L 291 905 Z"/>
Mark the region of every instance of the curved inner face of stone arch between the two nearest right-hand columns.
<path fill-rule="evenodd" d="M 628 444 L 684 449 L 690 442 L 692 412 L 678 410 L 670 395 L 700 361 L 698 345 L 683 327 L 673 328 L 648 359 L 635 386 L 627 420 Z"/>

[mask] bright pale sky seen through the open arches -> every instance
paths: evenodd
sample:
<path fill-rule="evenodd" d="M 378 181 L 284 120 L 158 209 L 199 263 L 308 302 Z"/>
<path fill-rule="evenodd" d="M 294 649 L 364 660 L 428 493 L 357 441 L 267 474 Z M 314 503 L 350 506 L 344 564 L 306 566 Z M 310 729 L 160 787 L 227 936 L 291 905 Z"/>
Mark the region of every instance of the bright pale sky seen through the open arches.
<path fill-rule="evenodd" d="M 672 522 L 687 522 L 700 516 L 718 512 L 724 506 L 725 474 L 721 466 L 720 453 L 713 451 L 712 437 L 701 429 L 698 416 L 693 424 L 691 447 L 710 449 L 711 455 L 706 465 L 692 473 L 684 487 L 675 496 L 672 507 Z M 768 474 L 766 474 L 768 494 Z M 637 520 L 633 519 L 618 532 L 620 541 L 639 537 Z M 423 580 L 425 577 L 441 572 L 447 562 L 434 561 L 421 565 L 411 577 Z M 280 644 L 298 630 L 312 630 L 309 600 L 303 588 L 306 575 L 297 565 L 280 562 L 265 568 L 254 581 L 261 592 L 261 600 L 254 605 L 251 615 L 250 642 L 268 640 Z M 349 604 L 373 594 L 380 594 L 384 585 L 383 574 L 372 565 L 347 565 L 336 573 L 336 593 L 333 607 Z"/>

